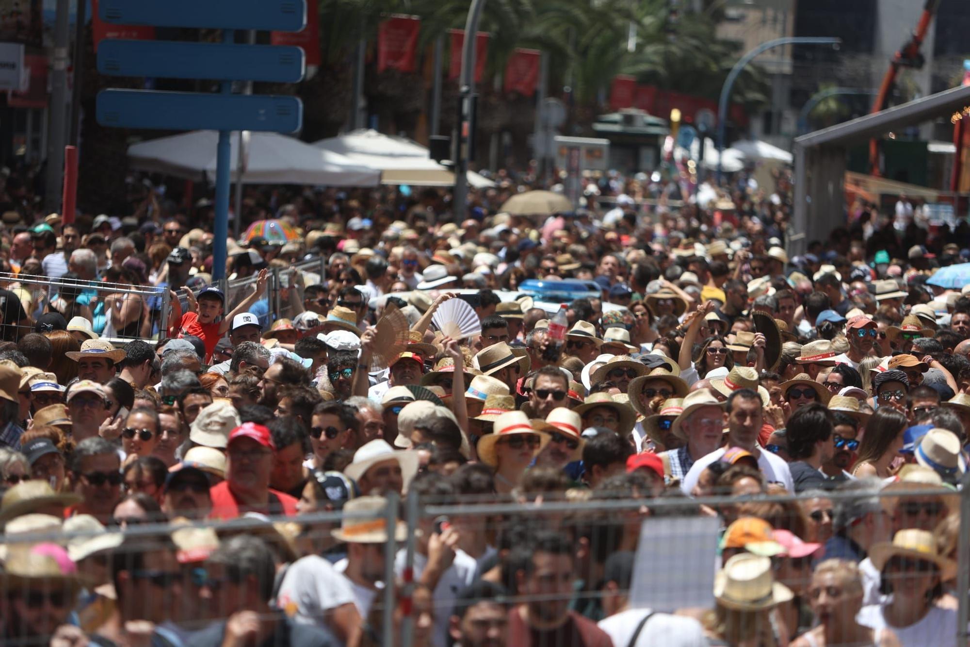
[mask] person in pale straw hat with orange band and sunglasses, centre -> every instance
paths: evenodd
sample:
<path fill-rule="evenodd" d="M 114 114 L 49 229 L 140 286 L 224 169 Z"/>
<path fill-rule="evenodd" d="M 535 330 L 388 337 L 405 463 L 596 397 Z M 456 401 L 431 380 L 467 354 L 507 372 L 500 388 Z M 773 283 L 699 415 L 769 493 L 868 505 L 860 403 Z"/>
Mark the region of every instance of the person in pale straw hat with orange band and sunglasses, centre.
<path fill-rule="evenodd" d="M 478 439 L 478 458 L 495 470 L 496 492 L 511 494 L 549 434 L 536 430 L 521 411 L 501 414 L 493 426 L 493 433 Z"/>

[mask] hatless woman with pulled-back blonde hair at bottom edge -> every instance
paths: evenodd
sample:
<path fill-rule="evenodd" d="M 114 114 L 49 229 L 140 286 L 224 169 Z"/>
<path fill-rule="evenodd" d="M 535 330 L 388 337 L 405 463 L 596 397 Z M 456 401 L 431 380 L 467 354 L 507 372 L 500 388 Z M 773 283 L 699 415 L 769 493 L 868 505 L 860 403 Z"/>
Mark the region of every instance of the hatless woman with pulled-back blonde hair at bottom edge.
<path fill-rule="evenodd" d="M 891 630 L 873 630 L 858 624 L 856 616 L 862 608 L 863 593 L 862 575 L 855 562 L 825 560 L 816 566 L 808 599 L 819 626 L 803 633 L 792 642 L 792 647 L 898 645 Z"/>

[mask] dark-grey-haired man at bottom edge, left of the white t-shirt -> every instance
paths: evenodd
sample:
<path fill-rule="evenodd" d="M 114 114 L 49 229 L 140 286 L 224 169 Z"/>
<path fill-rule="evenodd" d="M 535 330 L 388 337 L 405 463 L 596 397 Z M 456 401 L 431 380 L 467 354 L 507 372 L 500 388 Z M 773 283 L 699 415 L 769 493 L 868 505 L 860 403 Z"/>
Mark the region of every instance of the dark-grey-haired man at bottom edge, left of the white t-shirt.
<path fill-rule="evenodd" d="M 313 625 L 300 625 L 271 604 L 276 575 L 273 551 L 258 537 L 237 535 L 221 542 L 206 562 L 212 608 L 227 616 L 206 630 L 192 634 L 189 647 L 229 644 L 328 647 L 339 644 L 333 634 Z"/>

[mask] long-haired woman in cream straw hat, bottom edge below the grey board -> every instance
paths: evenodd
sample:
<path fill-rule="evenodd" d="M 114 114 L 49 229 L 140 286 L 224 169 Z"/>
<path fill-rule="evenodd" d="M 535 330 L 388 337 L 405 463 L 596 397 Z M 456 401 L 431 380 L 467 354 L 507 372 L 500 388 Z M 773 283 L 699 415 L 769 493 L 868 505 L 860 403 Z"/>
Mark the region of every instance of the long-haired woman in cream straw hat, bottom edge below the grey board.
<path fill-rule="evenodd" d="M 792 599 L 792 591 L 774 581 L 769 558 L 742 553 L 727 560 L 714 579 L 714 599 L 717 603 L 708 621 L 708 644 L 784 644 L 784 639 L 775 635 L 771 611 Z"/>

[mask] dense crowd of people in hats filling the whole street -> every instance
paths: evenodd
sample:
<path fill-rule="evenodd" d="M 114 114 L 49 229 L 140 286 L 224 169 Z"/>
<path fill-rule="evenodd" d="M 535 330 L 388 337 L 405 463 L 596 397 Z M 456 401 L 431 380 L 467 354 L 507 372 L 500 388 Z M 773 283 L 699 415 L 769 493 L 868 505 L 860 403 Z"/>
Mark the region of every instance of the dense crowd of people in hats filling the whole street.
<path fill-rule="evenodd" d="M 790 257 L 786 173 L 703 203 L 607 174 L 536 215 L 496 180 L 466 218 L 250 189 L 296 233 L 230 241 L 228 294 L 208 201 L 132 183 L 133 215 L 64 223 L 8 181 L 0 643 L 956 645 L 958 232 L 855 205 Z M 564 334 L 557 286 L 588 292 Z M 463 507 L 409 536 L 414 495 Z M 643 608 L 640 534 L 684 517 L 720 527 L 710 599 Z"/>

